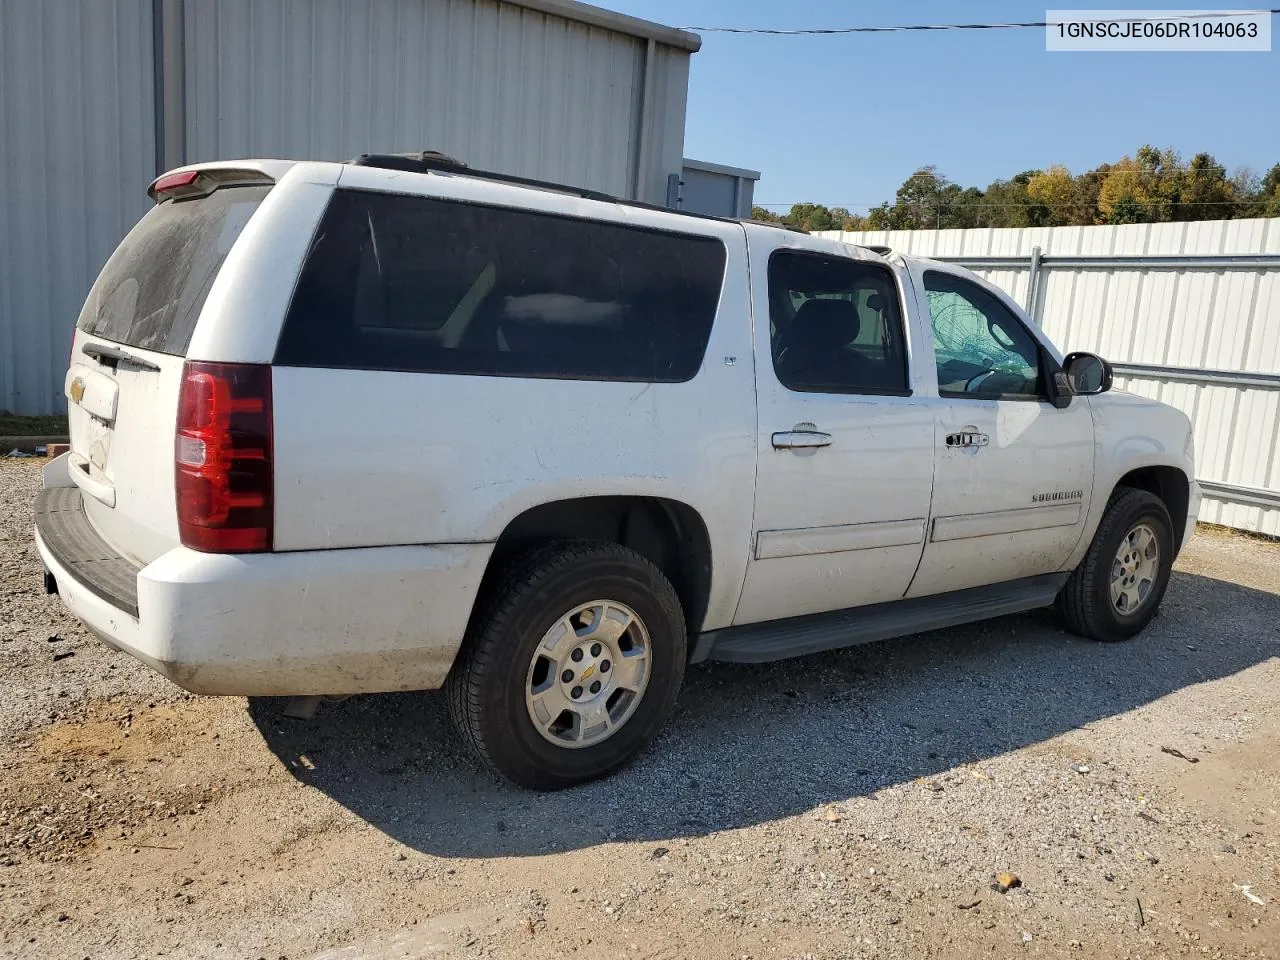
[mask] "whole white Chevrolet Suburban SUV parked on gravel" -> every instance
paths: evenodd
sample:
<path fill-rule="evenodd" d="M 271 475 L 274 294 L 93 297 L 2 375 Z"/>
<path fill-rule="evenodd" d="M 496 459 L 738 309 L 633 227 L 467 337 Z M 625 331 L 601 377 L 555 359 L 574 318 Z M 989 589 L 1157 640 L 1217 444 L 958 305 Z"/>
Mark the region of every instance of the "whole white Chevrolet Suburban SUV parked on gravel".
<path fill-rule="evenodd" d="M 686 663 L 1155 616 L 1187 417 L 941 262 L 438 155 L 182 168 L 81 314 L 46 588 L 201 694 L 608 773 Z"/>

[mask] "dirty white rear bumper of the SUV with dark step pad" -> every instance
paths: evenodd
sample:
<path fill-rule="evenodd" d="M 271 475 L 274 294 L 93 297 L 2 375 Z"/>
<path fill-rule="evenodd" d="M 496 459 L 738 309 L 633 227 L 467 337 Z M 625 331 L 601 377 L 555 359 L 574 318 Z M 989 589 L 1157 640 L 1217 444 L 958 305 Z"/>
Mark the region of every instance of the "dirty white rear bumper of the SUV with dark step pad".
<path fill-rule="evenodd" d="M 101 543 L 83 509 L 63 503 L 58 512 L 58 524 L 82 524 L 79 532 Z M 212 554 L 177 547 L 136 568 L 134 616 L 68 549 L 67 532 L 37 509 L 36 547 L 76 617 L 180 687 L 237 696 L 439 687 L 493 550 Z"/>

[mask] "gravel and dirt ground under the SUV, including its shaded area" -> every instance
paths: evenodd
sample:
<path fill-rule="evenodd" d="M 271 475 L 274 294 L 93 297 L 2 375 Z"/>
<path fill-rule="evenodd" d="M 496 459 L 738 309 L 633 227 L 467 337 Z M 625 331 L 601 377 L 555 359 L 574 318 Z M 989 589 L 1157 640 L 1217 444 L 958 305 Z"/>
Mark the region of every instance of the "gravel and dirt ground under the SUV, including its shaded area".
<path fill-rule="evenodd" d="M 0 956 L 1280 956 L 1277 544 L 1202 532 L 1126 644 L 694 668 L 635 765 L 534 795 L 435 695 L 298 723 L 111 653 L 37 485 L 0 461 Z"/>

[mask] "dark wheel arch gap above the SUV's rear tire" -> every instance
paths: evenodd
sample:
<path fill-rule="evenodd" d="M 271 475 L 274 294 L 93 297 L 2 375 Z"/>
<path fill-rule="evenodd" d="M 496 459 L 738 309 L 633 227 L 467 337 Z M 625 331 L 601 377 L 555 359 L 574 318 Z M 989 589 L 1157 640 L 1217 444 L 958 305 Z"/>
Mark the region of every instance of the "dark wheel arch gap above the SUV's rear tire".
<path fill-rule="evenodd" d="M 602 540 L 635 550 L 671 581 L 690 636 L 701 628 L 712 594 L 712 543 L 701 515 L 687 503 L 666 497 L 600 495 L 530 507 L 498 538 L 477 605 L 503 567 L 549 540 Z"/>

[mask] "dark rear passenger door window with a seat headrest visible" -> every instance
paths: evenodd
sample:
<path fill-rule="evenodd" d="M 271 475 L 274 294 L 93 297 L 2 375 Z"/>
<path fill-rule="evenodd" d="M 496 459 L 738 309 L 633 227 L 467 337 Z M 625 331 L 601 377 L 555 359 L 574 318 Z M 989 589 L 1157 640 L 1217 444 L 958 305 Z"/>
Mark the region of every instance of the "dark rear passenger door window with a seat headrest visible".
<path fill-rule="evenodd" d="M 777 251 L 769 335 L 773 370 L 788 389 L 909 393 L 897 287 L 878 264 Z"/>

